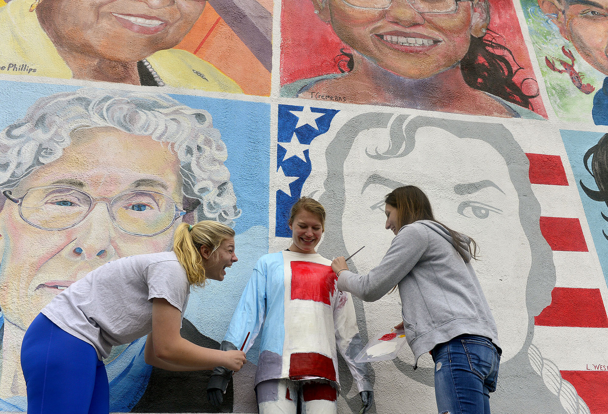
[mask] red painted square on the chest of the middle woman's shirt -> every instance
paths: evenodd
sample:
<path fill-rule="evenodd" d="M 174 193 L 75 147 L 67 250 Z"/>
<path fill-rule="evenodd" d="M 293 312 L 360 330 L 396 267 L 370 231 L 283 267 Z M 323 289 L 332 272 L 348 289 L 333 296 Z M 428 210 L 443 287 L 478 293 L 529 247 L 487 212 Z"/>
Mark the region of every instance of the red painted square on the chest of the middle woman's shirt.
<path fill-rule="evenodd" d="M 331 305 L 337 276 L 330 266 L 312 262 L 291 262 L 291 299 L 314 300 Z"/>

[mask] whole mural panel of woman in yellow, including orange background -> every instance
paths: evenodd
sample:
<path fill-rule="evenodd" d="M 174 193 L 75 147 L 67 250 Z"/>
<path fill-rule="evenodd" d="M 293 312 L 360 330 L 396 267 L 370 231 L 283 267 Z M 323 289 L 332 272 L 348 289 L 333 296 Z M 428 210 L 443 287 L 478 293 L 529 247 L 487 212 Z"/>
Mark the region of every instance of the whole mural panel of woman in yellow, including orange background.
<path fill-rule="evenodd" d="M 271 11 L 271 0 L 11 0 L 0 73 L 269 95 Z"/>

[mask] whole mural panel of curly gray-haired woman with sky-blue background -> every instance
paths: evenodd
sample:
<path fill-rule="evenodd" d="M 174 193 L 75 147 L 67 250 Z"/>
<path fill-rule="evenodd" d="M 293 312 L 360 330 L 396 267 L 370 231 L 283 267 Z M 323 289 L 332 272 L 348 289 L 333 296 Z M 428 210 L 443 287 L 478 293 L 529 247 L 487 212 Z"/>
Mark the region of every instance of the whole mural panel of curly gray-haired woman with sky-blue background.
<path fill-rule="evenodd" d="M 218 348 L 250 268 L 268 252 L 269 106 L 19 85 L 18 100 L 0 92 L 0 101 L 18 102 L 0 108 L 0 409 L 26 410 L 19 349 L 40 309 L 109 260 L 171 249 L 182 220 L 219 220 L 237 234 L 243 266 L 193 291 L 182 327 L 185 338 Z M 148 206 L 166 208 L 161 217 Z M 144 342 L 115 347 L 105 361 L 112 412 L 217 412 L 191 394 L 210 372 L 153 368 Z M 250 412 L 251 403 L 238 384 L 221 410 Z"/>

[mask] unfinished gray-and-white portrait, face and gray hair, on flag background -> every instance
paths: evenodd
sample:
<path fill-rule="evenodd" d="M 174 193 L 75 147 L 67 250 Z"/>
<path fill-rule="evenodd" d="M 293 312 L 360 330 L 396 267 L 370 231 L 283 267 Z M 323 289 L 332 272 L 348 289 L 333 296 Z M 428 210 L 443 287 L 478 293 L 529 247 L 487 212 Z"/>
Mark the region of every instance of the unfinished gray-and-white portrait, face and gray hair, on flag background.
<path fill-rule="evenodd" d="M 328 158 L 320 197 L 330 212 L 320 253 L 345 256 L 365 246 L 365 253 L 350 263 L 356 273 L 367 273 L 394 237 L 385 229 L 385 195 L 399 186 L 419 186 L 437 220 L 477 242 L 480 260 L 472 265 L 503 344 L 502 378 L 510 382 L 510 377 L 531 372 L 530 380 L 542 384 L 528 349 L 534 316 L 550 303 L 555 273 L 539 228 L 541 210 L 531 190 L 528 160 L 511 132 L 497 124 L 370 112 L 340 127 L 324 153 L 333 158 Z M 446 165 L 449 174 L 438 174 Z M 379 323 L 388 327 L 387 320 L 396 325 L 401 319 L 398 299 L 393 293 L 360 302 L 359 324 L 370 333 L 380 329 Z M 425 378 L 432 378 L 433 362 L 421 358 L 419 367 L 428 370 L 421 375 L 412 372 L 413 356 L 406 354 L 393 360 L 393 376 L 418 390 L 412 402 L 429 398 L 432 404 L 433 382 Z M 389 382 L 376 378 L 375 387 L 392 389 L 392 398 L 401 395 Z M 494 404 L 512 406 L 510 395 L 517 392 L 503 389 Z M 542 396 L 543 401 L 551 398 L 548 390 Z"/>

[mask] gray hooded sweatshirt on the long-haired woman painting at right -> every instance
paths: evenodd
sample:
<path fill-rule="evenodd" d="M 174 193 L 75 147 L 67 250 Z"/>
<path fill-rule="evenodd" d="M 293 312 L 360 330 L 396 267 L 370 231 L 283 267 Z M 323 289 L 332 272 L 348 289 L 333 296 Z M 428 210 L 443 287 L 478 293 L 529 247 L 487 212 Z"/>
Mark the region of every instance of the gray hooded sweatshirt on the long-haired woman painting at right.
<path fill-rule="evenodd" d="M 418 358 L 461 334 L 491 339 L 499 348 L 496 322 L 471 266 L 470 240 L 457 240 L 430 220 L 403 226 L 389 251 L 368 274 L 340 272 L 337 287 L 373 302 L 399 287 L 407 344 Z"/>

